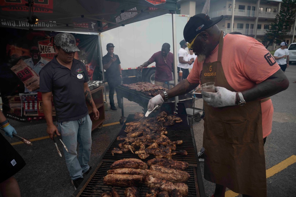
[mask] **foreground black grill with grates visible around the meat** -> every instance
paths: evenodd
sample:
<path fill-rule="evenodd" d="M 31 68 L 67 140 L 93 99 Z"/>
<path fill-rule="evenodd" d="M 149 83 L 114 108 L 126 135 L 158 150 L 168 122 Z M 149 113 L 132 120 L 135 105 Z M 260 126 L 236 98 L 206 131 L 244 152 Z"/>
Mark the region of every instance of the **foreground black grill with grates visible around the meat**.
<path fill-rule="evenodd" d="M 163 104 L 160 110 L 168 108 L 167 103 Z M 167 112 L 168 113 L 168 112 Z M 168 113 L 169 114 L 169 113 Z M 152 114 L 151 114 L 152 115 Z M 183 140 L 181 145 L 177 145 L 176 150 L 186 150 L 188 152 L 187 156 L 174 155 L 172 159 L 178 161 L 188 162 L 189 167 L 185 169 L 186 172 L 190 174 L 190 178 L 186 182 L 188 185 L 188 197 L 205 197 L 204 185 L 201 176 L 201 170 L 199 166 L 199 160 L 197 156 L 196 143 L 194 140 L 194 133 L 192 127 L 192 118 L 188 118 L 185 110 L 184 103 L 178 103 L 178 110 L 175 116 L 180 117 L 183 121 L 181 123 L 175 123 L 173 126 L 166 126 L 167 134 L 170 140 Z M 154 115 L 155 116 L 155 115 Z M 127 122 L 135 121 L 135 115 L 129 114 L 126 119 Z M 124 124 L 118 134 L 118 136 L 126 135 L 124 132 L 126 125 Z M 116 137 L 110 143 L 108 148 L 105 150 L 103 155 L 97 161 L 97 163 L 92 167 L 92 170 L 84 177 L 84 181 L 80 184 L 77 190 L 73 193 L 73 197 L 80 196 L 98 196 L 100 197 L 102 193 L 108 192 L 111 190 L 112 186 L 104 185 L 103 178 L 107 175 L 107 170 L 110 169 L 110 165 L 113 162 L 118 161 L 123 158 L 138 158 L 138 155 L 131 153 L 130 151 L 123 154 L 114 154 L 112 156 L 111 150 L 113 148 L 118 148 L 119 143 L 124 142 L 124 140 L 116 140 Z M 153 159 L 154 156 L 149 156 L 148 158 L 142 160 L 147 163 L 148 160 Z M 124 196 L 125 187 L 115 187 L 117 192 L 121 197 Z M 144 197 L 148 191 L 148 187 L 142 185 L 137 187 L 140 197 Z"/>

